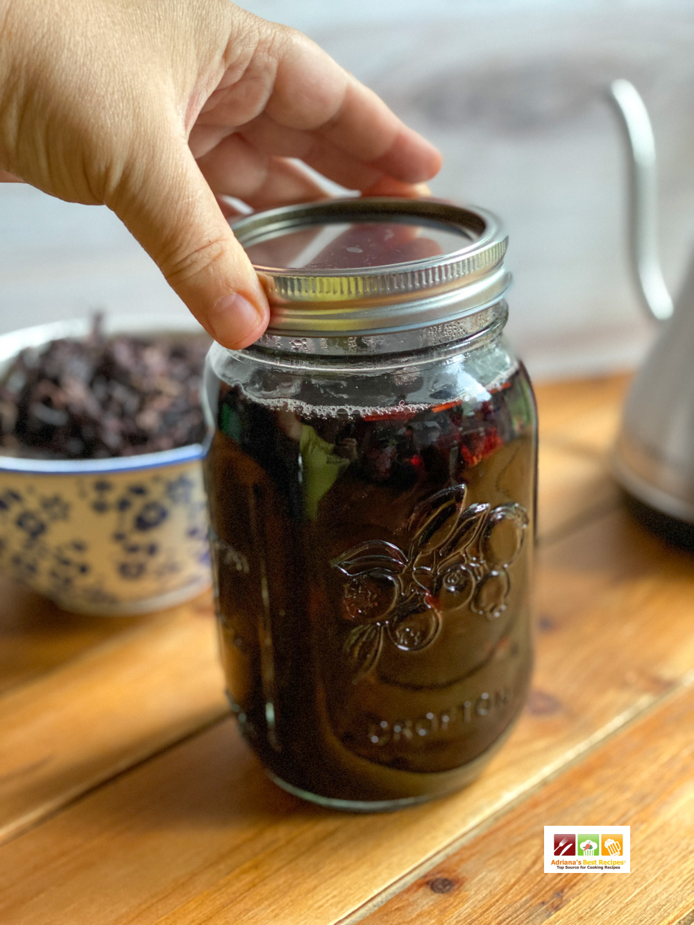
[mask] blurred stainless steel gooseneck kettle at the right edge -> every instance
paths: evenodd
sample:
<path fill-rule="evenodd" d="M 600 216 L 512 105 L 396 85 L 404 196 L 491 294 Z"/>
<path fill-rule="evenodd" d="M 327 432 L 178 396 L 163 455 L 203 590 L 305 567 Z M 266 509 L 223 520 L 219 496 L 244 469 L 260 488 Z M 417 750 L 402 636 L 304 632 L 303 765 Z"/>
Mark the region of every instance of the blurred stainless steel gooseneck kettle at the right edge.
<path fill-rule="evenodd" d="M 626 400 L 613 474 L 642 518 L 689 545 L 694 542 L 694 258 L 671 299 L 658 260 L 651 120 L 627 80 L 614 80 L 610 92 L 630 154 L 630 262 L 644 308 L 662 327 Z"/>

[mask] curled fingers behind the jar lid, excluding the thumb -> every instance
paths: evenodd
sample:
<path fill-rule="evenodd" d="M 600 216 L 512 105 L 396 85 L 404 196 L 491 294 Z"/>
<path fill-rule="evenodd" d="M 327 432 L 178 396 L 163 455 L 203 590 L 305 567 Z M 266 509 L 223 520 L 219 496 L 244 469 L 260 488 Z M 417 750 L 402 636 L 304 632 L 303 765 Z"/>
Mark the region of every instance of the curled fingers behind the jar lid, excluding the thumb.
<path fill-rule="evenodd" d="M 196 156 L 224 147 L 225 135 L 236 128 L 257 152 L 300 158 L 353 190 L 364 191 L 384 178 L 411 187 L 438 172 L 439 152 L 376 93 L 305 36 L 266 27 L 252 65 L 203 107 L 191 135 Z M 256 59 L 266 62 L 264 80 Z M 412 194 L 406 187 L 398 192 Z"/>

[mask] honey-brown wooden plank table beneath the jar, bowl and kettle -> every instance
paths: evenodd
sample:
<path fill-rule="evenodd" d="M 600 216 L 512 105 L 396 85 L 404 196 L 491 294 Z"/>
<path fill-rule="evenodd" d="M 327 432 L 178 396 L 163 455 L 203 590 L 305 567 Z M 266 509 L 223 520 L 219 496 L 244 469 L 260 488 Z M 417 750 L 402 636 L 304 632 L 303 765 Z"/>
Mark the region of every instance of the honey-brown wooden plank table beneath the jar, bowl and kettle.
<path fill-rule="evenodd" d="M 270 783 L 209 598 L 136 620 L 0 588 L 2 925 L 694 922 L 694 557 L 606 469 L 626 379 L 538 389 L 537 667 L 465 791 L 351 816 Z M 545 875 L 542 827 L 630 825 L 630 874 Z"/>

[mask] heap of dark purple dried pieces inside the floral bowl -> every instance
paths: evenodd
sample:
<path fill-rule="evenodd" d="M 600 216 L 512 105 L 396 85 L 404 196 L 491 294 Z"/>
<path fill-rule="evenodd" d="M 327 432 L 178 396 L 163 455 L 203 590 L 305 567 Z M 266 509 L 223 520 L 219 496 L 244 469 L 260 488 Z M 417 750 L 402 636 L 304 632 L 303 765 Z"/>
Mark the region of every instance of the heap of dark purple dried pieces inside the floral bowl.
<path fill-rule="evenodd" d="M 52 459 L 132 456 L 204 437 L 208 342 L 190 335 L 85 339 L 19 353 L 0 385 L 0 448 Z"/>

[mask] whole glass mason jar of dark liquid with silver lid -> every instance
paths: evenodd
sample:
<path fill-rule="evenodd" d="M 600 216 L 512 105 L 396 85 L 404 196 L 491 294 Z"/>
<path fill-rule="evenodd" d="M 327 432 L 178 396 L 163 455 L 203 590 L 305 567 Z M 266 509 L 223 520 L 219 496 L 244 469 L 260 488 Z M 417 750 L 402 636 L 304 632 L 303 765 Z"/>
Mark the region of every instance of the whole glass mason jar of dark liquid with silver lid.
<path fill-rule="evenodd" d="M 523 706 L 536 415 L 498 219 L 332 200 L 234 226 L 271 325 L 215 345 L 206 460 L 229 699 L 271 777 L 395 808 L 472 780 Z"/>

